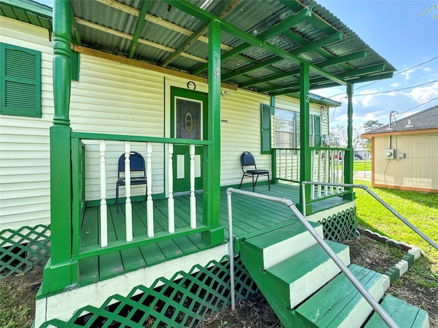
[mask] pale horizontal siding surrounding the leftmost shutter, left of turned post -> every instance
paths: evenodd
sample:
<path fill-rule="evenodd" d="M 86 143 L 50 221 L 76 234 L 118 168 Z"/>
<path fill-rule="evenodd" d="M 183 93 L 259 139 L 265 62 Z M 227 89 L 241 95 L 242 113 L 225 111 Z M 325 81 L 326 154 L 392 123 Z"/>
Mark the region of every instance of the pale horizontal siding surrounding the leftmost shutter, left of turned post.
<path fill-rule="evenodd" d="M 0 40 L 41 52 L 42 117 L 0 115 L 0 230 L 50 221 L 52 57 L 47 29 L 1 17 Z"/>

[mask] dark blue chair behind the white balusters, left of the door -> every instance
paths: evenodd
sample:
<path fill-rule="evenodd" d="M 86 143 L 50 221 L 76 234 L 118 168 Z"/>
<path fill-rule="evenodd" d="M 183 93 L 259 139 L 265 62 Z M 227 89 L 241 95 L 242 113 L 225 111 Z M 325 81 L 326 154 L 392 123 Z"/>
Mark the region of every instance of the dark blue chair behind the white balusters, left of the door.
<path fill-rule="evenodd" d="M 148 193 L 148 185 L 146 180 L 146 167 L 144 166 L 144 158 L 138 152 L 131 152 L 129 154 L 129 167 L 131 167 L 131 185 L 133 184 L 146 184 L 146 194 Z M 116 181 L 116 208 L 118 213 L 118 187 L 125 186 L 125 176 L 121 174 L 125 172 L 125 154 L 122 154 L 118 159 L 118 173 Z M 139 173 L 140 172 L 140 173 Z"/>

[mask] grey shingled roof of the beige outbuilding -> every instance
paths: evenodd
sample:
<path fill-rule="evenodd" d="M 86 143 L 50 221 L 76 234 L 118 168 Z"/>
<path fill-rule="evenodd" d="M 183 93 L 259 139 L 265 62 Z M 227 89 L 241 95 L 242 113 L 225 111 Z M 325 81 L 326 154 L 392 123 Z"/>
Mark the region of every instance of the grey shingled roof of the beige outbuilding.
<path fill-rule="evenodd" d="M 424 111 L 419 111 L 418 113 L 412 114 L 407 118 L 397 120 L 391 124 L 391 129 L 389 129 L 389 124 L 386 124 L 369 131 L 368 133 L 364 133 L 362 137 L 369 138 L 379 134 L 390 135 L 393 133 L 409 131 L 428 132 L 430 129 L 435 129 L 438 131 L 438 105 L 424 109 Z"/>

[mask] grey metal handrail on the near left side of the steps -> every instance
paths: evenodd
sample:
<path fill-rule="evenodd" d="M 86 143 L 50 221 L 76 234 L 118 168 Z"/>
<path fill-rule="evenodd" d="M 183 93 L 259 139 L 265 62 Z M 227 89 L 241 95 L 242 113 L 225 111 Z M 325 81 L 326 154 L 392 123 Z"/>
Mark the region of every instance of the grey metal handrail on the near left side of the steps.
<path fill-rule="evenodd" d="M 324 249 L 324 251 L 326 251 L 326 253 L 329 254 L 330 258 L 335 262 L 337 267 L 339 267 L 339 269 L 341 269 L 341 271 L 346 275 L 346 277 L 350 280 L 350 282 L 356 287 L 357 290 L 359 290 L 359 292 L 361 293 L 363 298 L 365 298 L 366 301 L 368 301 L 368 303 L 371 305 L 371 307 L 374 309 L 374 311 L 377 312 L 377 314 L 388 325 L 388 327 L 389 328 L 399 328 L 398 325 L 394 322 L 394 320 L 389 316 L 389 314 L 387 314 L 387 312 L 385 312 L 385 310 L 383 310 L 381 305 L 370 295 L 368 290 L 366 290 L 365 287 L 363 287 L 363 285 L 361 284 L 361 282 L 359 282 L 357 277 L 355 277 L 355 275 L 352 274 L 350 269 L 348 269 L 348 267 L 346 267 L 344 262 L 342 262 L 342 260 L 337 257 L 335 251 L 333 251 L 333 249 L 331 249 L 331 247 L 326 243 L 326 241 L 324 241 L 324 238 L 322 238 L 320 236 L 320 234 L 318 234 L 318 232 L 307 221 L 305 216 L 300 213 L 300 211 L 298 210 L 298 208 L 296 208 L 296 206 L 294 205 L 292 200 L 289 200 L 288 198 L 273 197 L 270 195 L 263 195 L 261 193 L 251 193 L 249 191 L 243 191 L 240 189 L 229 188 L 229 189 L 227 189 L 227 199 L 228 199 L 229 225 L 231 225 L 231 226 L 232 226 L 231 193 L 237 193 L 240 195 L 247 195 L 250 197 L 260 198 L 262 200 L 269 200 L 271 202 L 285 204 L 290 210 L 292 210 L 294 215 L 296 215 L 296 217 L 298 217 L 298 219 L 300 220 L 302 225 L 305 226 L 307 231 L 309 231 L 310 234 L 313 236 L 313 238 L 315 238 L 315 240 L 318 242 L 318 244 L 321 245 L 322 249 Z M 232 246 L 233 235 L 231 234 L 231 232 L 232 232 L 232 230 L 229 232 L 229 243 L 231 243 L 231 246 Z M 229 249 L 231 249 L 231 247 Z M 231 249 L 231 251 L 233 251 L 233 249 Z M 230 256 L 231 256 L 230 257 L 230 275 L 231 275 L 231 279 L 234 279 L 234 270 L 231 271 L 231 263 L 233 262 L 233 260 L 231 260 L 231 258 L 234 258 L 233 253 L 231 253 Z M 234 295 L 234 280 L 231 283 L 231 308 L 232 309 L 233 309 L 233 302 L 234 302 L 233 295 Z"/>

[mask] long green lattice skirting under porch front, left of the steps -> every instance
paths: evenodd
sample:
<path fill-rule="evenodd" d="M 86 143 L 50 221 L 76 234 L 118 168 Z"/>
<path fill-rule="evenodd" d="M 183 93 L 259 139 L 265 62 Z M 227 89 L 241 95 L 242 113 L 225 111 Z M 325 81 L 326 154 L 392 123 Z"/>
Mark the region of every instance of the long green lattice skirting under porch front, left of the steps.
<path fill-rule="evenodd" d="M 68 322 L 53 319 L 41 327 L 199 327 L 231 303 L 229 283 L 229 261 L 223 258 L 157 279 L 150 288 L 137 286 L 127 297 L 114 295 L 100 308 L 81 308 Z M 236 300 L 257 291 L 240 259 L 235 260 Z"/>

